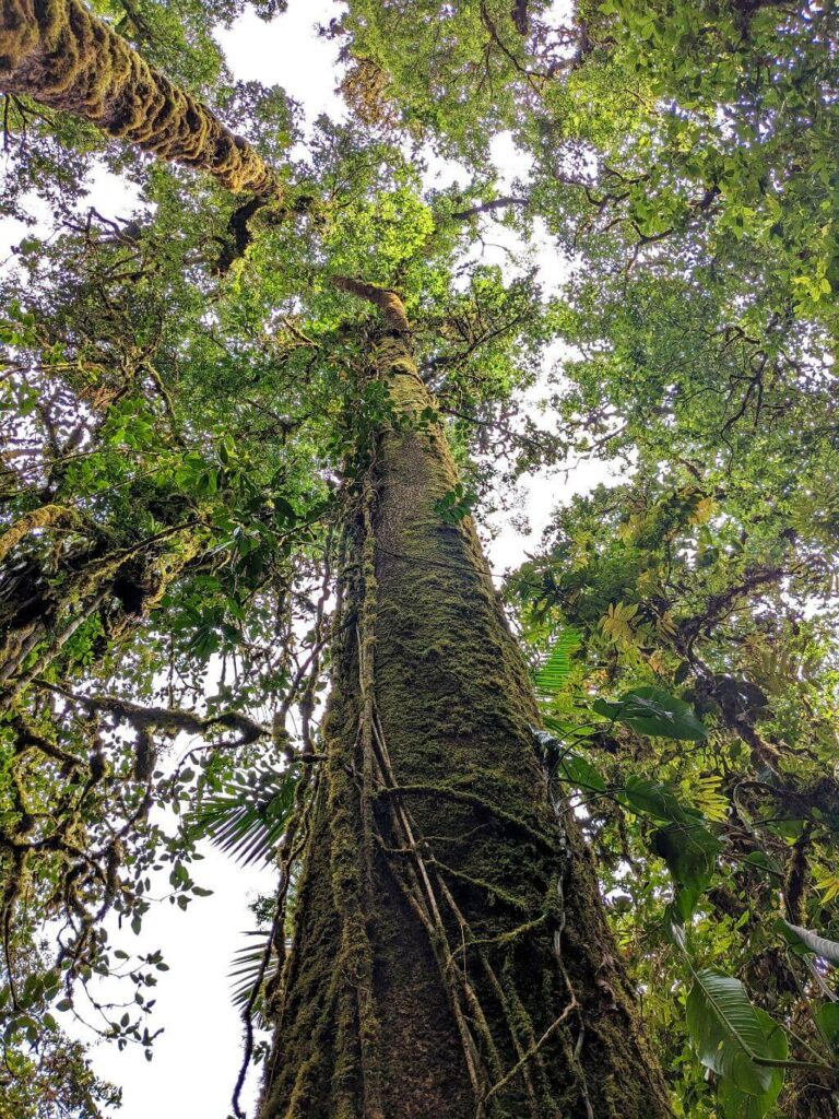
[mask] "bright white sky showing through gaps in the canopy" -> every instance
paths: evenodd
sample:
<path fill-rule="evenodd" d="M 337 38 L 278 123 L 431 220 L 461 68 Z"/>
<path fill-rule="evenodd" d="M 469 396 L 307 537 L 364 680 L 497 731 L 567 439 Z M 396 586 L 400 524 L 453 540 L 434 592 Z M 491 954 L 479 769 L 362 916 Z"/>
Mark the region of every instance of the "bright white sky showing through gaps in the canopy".
<path fill-rule="evenodd" d="M 339 12 L 340 3 L 332 0 L 291 0 L 289 11 L 266 25 L 248 9 L 219 39 L 237 78 L 283 85 L 304 106 L 310 122 L 322 112 L 340 117 L 345 110 L 334 93 L 340 81 L 337 45 L 314 32 L 315 25 L 327 23 Z M 493 157 L 502 178 L 526 175 L 521 153 L 509 138 L 496 142 Z M 459 177 L 456 164 L 432 161 L 430 180 L 435 186 Z M 134 198 L 120 179 L 97 172 L 85 205 L 106 216 L 124 216 L 133 208 Z M 26 233 L 17 222 L 0 225 L 0 267 L 11 263 L 11 246 Z M 489 239 L 497 246 L 512 244 L 509 234 L 498 227 Z M 505 264 L 503 247 L 489 247 L 484 260 Z M 559 282 L 562 269 L 552 246 L 546 244 L 538 263 L 546 284 Z M 586 466 L 567 480 L 544 472 L 522 485 L 519 511 L 527 511 L 535 530 L 530 546 L 560 499 L 607 478 L 602 466 Z M 490 547 L 490 561 L 493 571 L 501 572 L 521 562 L 528 543 L 501 516 L 494 518 L 493 527 L 500 532 Z M 126 951 L 162 947 L 171 968 L 159 974 L 158 1003 L 149 1019 L 151 1029 L 164 1026 L 154 1043 L 153 1061 L 147 1062 L 139 1046 L 122 1053 L 106 1044 L 94 1050 L 97 1073 L 123 1088 L 123 1108 L 114 1112 L 121 1119 L 227 1119 L 230 1113 L 229 1099 L 241 1063 L 241 1023 L 230 1004 L 226 977 L 234 952 L 243 947 L 242 933 L 255 923 L 247 903 L 256 893 L 272 891 L 274 874 L 243 869 L 213 848 L 206 849 L 205 861 L 195 864 L 192 873 L 198 885 L 215 891 L 211 897 L 197 899 L 187 913 L 168 903 L 152 906 L 140 938 L 129 930 L 119 933 L 119 943 Z M 164 893 L 166 886 L 159 892 Z M 113 930 L 112 943 L 116 937 Z M 255 1087 L 256 1078 L 252 1078 L 251 1101 Z"/>

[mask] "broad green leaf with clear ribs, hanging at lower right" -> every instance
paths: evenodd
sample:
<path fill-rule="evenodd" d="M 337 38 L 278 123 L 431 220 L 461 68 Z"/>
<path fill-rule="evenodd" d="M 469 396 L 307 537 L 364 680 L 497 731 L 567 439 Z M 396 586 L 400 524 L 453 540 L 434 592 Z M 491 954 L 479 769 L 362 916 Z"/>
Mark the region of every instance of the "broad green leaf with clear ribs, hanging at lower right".
<path fill-rule="evenodd" d="M 763 1062 L 785 1061 L 786 1035 L 763 1010 L 752 1006 L 743 984 L 713 968 L 694 972 L 687 999 L 687 1024 L 699 1060 L 729 1088 L 769 1100 L 783 1085 L 783 1071 Z M 755 1112 L 755 1115 L 763 1112 Z"/>

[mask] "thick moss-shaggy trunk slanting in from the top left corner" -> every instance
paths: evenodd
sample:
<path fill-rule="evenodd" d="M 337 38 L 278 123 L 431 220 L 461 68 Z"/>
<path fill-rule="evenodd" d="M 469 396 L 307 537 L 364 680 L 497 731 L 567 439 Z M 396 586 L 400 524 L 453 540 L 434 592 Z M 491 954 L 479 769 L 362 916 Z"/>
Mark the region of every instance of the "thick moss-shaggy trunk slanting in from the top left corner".
<path fill-rule="evenodd" d="M 0 88 L 92 121 L 160 159 L 268 195 L 262 157 L 205 105 L 144 62 L 78 0 L 2 0 Z"/>

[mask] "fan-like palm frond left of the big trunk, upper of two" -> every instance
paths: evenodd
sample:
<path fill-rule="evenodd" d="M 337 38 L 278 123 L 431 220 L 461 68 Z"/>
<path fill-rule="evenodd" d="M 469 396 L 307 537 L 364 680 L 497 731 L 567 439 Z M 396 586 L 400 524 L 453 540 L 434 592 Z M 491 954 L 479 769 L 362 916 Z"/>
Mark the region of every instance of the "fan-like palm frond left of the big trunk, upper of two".
<path fill-rule="evenodd" d="M 249 781 L 228 781 L 221 793 L 205 796 L 194 830 L 245 865 L 270 863 L 294 803 L 298 774 L 265 770 Z"/>

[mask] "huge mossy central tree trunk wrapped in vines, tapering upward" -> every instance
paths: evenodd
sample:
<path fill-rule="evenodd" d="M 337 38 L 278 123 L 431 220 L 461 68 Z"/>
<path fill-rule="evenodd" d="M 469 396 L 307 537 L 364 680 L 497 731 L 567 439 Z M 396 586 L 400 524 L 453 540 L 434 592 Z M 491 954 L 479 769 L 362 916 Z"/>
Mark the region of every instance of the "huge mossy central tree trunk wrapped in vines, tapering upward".
<path fill-rule="evenodd" d="M 347 535 L 293 948 L 262 1119 L 664 1119 L 671 1111 L 398 299 L 398 422 Z"/>

